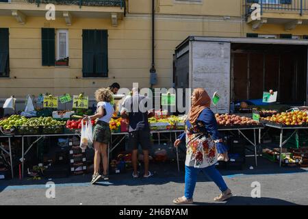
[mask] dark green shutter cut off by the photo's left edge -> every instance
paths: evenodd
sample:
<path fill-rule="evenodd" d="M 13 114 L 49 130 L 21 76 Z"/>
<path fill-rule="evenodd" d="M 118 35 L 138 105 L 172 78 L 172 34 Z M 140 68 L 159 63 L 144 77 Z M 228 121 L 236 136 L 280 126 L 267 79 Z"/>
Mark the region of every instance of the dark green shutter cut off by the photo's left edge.
<path fill-rule="evenodd" d="M 9 29 L 0 28 L 0 77 L 10 76 Z"/>

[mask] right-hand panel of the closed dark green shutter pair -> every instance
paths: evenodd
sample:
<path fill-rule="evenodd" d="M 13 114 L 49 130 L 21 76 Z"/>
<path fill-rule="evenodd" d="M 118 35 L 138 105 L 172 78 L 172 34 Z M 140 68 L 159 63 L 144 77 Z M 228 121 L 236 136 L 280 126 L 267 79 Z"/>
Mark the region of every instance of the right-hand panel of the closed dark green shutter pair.
<path fill-rule="evenodd" d="M 107 30 L 96 31 L 97 52 L 95 53 L 95 73 L 97 77 L 108 77 L 108 34 Z"/>

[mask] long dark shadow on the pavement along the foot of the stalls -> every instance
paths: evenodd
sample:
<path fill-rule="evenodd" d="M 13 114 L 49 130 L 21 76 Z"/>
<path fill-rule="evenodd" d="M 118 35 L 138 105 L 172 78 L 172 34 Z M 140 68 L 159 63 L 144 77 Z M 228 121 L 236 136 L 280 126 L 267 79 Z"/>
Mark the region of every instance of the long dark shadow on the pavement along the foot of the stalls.
<path fill-rule="evenodd" d="M 246 159 L 246 164 L 244 165 L 243 170 L 219 170 L 222 176 L 225 179 L 233 177 L 251 177 L 253 175 L 278 175 L 278 174 L 292 174 L 292 173 L 308 173 L 304 168 L 280 168 L 279 164 L 269 162 L 268 160 L 259 157 L 258 166 L 254 167 L 253 170 L 250 170 L 250 166 L 254 166 L 255 159 L 254 157 L 248 157 Z M 149 179 L 133 179 L 131 177 L 132 170 L 127 170 L 127 172 L 110 175 L 109 181 L 99 181 L 96 185 L 98 186 L 109 186 L 109 185 L 162 185 L 165 183 L 175 182 L 175 183 L 184 183 L 184 163 L 180 162 L 180 172 L 177 170 L 177 162 L 166 162 L 166 163 L 153 163 L 150 164 L 150 170 L 154 173 L 154 176 Z M 143 174 L 142 170 L 140 171 L 141 176 Z M 81 175 L 81 176 L 70 176 L 67 178 L 59 179 L 42 179 L 42 180 L 28 180 L 27 177 L 23 180 L 12 179 L 12 180 L 2 180 L 0 181 L 0 192 L 7 190 L 10 187 L 10 190 L 18 190 L 25 188 L 45 188 L 45 184 L 48 181 L 53 181 L 57 186 L 96 186 L 91 185 L 92 174 Z M 227 178 L 226 178 L 227 177 Z M 200 173 L 198 176 L 198 182 L 210 181 Z"/>

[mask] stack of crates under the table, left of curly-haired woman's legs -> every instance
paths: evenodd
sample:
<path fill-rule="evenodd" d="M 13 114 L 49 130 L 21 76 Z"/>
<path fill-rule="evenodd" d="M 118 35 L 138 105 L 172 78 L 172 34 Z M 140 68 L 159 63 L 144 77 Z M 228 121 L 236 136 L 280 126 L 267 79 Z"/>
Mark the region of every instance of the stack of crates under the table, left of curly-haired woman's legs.
<path fill-rule="evenodd" d="M 80 141 L 78 138 L 73 137 L 69 140 L 69 156 L 70 156 L 70 172 L 73 175 L 83 175 L 87 170 L 86 151 L 81 149 Z"/>

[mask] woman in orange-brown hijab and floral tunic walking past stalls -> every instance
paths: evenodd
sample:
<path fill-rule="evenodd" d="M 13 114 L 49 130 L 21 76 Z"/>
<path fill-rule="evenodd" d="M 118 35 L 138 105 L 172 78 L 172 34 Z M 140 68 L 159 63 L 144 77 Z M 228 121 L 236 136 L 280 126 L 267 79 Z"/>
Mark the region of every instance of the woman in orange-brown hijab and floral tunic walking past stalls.
<path fill-rule="evenodd" d="M 216 183 L 220 191 L 214 201 L 224 201 L 232 196 L 220 172 L 216 170 L 218 152 L 216 145 L 222 140 L 218 137 L 216 118 L 209 109 L 211 98 L 203 88 L 196 88 L 192 93 L 192 107 L 185 121 L 185 133 L 175 141 L 175 146 L 186 140 L 185 194 L 175 198 L 177 205 L 192 204 L 198 172 L 203 170 Z"/>

